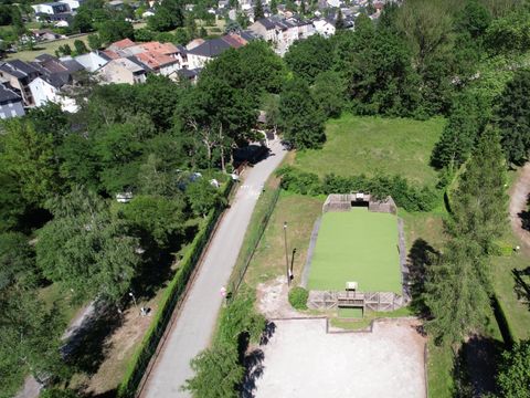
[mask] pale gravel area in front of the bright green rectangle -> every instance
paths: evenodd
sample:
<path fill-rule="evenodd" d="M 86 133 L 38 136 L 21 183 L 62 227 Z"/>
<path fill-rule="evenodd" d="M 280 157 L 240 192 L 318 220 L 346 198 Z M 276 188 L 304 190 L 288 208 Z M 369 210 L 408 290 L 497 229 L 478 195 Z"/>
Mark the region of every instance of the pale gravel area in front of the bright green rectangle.
<path fill-rule="evenodd" d="M 425 338 L 411 320 L 326 333 L 326 320 L 274 321 L 256 398 L 425 397 Z"/>

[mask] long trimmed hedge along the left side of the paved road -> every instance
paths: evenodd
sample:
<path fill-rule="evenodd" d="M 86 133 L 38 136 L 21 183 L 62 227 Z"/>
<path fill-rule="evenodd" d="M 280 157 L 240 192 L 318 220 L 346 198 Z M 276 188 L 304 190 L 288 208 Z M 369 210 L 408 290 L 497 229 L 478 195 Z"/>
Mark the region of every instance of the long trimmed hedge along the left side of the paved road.
<path fill-rule="evenodd" d="M 223 187 L 222 196 L 227 197 L 233 186 L 233 181 L 229 180 Z M 206 218 L 204 228 L 193 239 L 190 249 L 184 254 L 179 263 L 173 279 L 166 289 L 165 294 L 160 301 L 157 313 L 144 336 L 140 346 L 129 360 L 125 377 L 118 386 L 118 397 L 132 397 L 144 377 L 149 362 L 157 350 L 160 338 L 162 337 L 166 327 L 168 326 L 171 315 L 182 298 L 182 293 L 186 291 L 188 281 L 195 269 L 195 265 L 201 256 L 202 250 L 206 245 L 210 234 L 222 213 L 223 207 L 220 206 L 210 211 Z"/>

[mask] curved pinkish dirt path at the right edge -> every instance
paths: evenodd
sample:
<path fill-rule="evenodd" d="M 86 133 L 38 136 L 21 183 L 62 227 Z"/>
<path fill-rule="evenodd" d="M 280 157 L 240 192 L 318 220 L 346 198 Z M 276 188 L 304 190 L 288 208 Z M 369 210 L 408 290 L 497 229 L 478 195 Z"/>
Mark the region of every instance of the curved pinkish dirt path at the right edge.
<path fill-rule="evenodd" d="M 522 228 L 522 219 L 519 216 L 527 210 L 528 196 L 530 193 L 530 161 L 519 171 L 518 179 L 510 190 L 510 223 L 517 238 L 521 241 L 521 249 L 530 255 L 530 233 Z"/>

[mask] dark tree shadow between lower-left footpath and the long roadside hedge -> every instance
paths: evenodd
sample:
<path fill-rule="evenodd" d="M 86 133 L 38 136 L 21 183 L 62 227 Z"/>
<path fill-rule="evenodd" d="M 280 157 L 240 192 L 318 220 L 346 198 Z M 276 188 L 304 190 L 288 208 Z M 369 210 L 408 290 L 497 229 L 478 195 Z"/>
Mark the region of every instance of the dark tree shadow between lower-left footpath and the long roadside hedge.
<path fill-rule="evenodd" d="M 65 362 L 78 371 L 94 375 L 112 348 L 107 341 L 121 326 L 123 317 L 113 305 L 96 303 L 94 313 L 61 348 Z"/>

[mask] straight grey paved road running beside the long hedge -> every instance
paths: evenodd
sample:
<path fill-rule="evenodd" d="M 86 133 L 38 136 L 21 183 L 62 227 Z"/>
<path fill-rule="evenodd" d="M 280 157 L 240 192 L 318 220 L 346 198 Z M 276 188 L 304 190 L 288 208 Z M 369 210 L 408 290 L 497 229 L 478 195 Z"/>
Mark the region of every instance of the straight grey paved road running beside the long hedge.
<path fill-rule="evenodd" d="M 190 397 L 180 391 L 186 379 L 193 376 L 190 360 L 210 344 L 223 300 L 220 290 L 229 281 L 262 186 L 286 154 L 277 142 L 271 143 L 271 148 L 272 156 L 247 170 L 219 226 L 180 316 L 149 375 L 142 398 Z"/>

